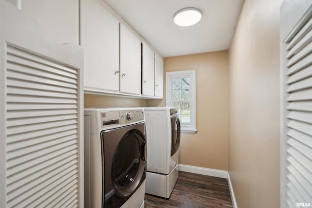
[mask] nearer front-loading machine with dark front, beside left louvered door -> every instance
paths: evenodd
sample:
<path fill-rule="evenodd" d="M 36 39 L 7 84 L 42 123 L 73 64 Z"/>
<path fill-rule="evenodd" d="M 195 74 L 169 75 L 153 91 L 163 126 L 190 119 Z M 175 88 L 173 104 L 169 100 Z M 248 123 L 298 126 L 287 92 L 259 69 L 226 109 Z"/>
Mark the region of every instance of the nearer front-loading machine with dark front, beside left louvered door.
<path fill-rule="evenodd" d="M 85 207 L 144 208 L 144 110 L 86 108 L 84 127 Z"/>

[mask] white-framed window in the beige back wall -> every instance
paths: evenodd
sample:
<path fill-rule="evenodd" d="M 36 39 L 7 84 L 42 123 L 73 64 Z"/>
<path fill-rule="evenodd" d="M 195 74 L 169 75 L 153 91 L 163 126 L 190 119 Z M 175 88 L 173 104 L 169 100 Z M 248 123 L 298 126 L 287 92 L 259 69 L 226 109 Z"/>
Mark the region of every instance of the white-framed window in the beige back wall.
<path fill-rule="evenodd" d="M 195 88 L 195 70 L 166 73 L 166 106 L 178 109 L 184 133 L 196 133 Z"/>

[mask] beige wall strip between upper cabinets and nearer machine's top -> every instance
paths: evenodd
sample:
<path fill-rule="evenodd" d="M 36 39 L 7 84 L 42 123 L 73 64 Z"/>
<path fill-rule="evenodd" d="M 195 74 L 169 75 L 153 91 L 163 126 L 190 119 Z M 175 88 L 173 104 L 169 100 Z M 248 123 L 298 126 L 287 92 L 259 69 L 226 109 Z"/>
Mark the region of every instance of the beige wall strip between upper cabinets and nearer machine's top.
<path fill-rule="evenodd" d="M 145 107 L 145 99 L 84 94 L 85 108 Z"/>

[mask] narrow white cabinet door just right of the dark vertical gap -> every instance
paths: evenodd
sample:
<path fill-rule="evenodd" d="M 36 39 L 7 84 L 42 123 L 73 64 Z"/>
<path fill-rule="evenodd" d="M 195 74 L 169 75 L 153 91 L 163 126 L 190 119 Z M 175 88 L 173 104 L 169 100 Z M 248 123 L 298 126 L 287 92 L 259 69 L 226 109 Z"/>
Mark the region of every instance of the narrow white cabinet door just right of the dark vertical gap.
<path fill-rule="evenodd" d="M 154 51 L 143 42 L 142 94 L 154 96 Z"/>

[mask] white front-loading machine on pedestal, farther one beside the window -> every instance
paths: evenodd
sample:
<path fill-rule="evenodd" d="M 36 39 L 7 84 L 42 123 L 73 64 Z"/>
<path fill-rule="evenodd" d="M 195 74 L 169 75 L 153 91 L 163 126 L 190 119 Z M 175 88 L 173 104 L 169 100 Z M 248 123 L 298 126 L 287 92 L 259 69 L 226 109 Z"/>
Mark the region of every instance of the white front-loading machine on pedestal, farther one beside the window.
<path fill-rule="evenodd" d="M 178 178 L 180 120 L 176 108 L 144 108 L 147 138 L 145 193 L 169 198 Z"/>

